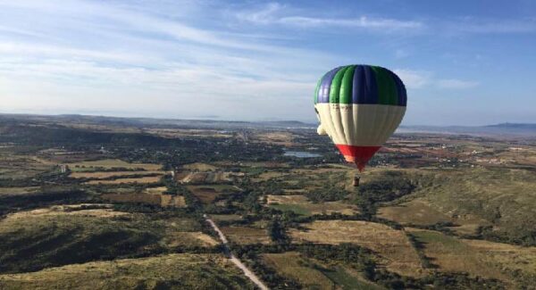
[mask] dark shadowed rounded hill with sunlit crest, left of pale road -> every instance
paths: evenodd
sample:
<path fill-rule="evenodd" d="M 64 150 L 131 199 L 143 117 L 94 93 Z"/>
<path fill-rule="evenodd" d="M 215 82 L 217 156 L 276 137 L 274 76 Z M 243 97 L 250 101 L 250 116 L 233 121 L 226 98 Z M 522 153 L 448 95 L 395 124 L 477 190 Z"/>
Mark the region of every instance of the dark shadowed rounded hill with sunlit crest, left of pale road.
<path fill-rule="evenodd" d="M 178 232 L 201 230 L 195 220 L 155 218 L 113 211 L 103 204 L 54 206 L 8 215 L 0 220 L 0 272 L 162 253 L 174 249 L 162 241 L 173 239 Z M 205 245 L 200 239 L 197 243 L 193 240 L 180 246 Z"/>

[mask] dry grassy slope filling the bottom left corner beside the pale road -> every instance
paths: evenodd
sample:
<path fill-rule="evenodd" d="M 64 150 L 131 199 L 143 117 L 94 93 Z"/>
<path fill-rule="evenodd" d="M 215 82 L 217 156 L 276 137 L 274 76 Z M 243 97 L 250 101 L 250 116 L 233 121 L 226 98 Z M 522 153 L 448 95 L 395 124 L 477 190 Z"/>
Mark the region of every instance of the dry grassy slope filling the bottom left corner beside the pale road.
<path fill-rule="evenodd" d="M 163 256 L 95 261 L 38 272 L 0 275 L 2 289 L 252 289 L 221 254 L 172 253 Z"/>

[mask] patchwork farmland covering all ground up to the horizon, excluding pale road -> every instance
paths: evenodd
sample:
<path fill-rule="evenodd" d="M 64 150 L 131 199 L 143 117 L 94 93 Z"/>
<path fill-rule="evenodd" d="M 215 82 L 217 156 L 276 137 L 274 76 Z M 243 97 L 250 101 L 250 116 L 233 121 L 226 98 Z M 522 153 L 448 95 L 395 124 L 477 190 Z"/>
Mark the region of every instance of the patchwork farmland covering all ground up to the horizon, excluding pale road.
<path fill-rule="evenodd" d="M 0 121 L 0 288 L 253 288 L 229 253 L 276 289 L 536 278 L 532 139 L 398 134 L 355 188 L 308 128 L 136 124 Z"/>

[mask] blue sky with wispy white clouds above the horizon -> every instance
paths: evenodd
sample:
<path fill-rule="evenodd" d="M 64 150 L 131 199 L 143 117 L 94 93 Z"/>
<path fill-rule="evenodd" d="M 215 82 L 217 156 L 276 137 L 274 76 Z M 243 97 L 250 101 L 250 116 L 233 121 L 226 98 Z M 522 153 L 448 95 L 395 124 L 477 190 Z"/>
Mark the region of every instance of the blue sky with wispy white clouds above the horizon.
<path fill-rule="evenodd" d="M 0 112 L 316 121 L 347 64 L 406 84 L 405 125 L 536 122 L 532 0 L 0 0 Z"/>

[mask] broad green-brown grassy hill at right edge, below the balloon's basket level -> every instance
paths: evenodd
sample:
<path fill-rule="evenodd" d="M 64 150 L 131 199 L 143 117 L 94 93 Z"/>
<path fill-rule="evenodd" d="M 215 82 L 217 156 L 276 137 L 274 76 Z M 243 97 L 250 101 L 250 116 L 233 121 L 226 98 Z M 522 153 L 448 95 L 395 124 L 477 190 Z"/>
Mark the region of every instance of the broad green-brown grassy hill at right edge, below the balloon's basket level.
<path fill-rule="evenodd" d="M 429 226 L 451 222 L 460 233 L 510 244 L 536 245 L 536 177 L 529 170 L 467 168 L 402 170 L 415 190 L 384 218 Z M 393 203 L 391 203 L 393 204 Z M 422 214 L 415 214 L 422 211 Z M 423 216 L 426 215 L 426 216 Z M 433 221 L 433 222 L 431 222 Z"/>

